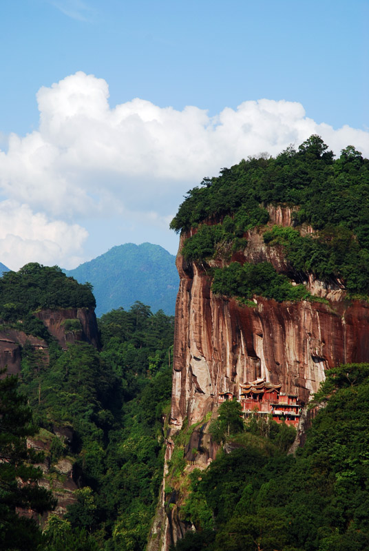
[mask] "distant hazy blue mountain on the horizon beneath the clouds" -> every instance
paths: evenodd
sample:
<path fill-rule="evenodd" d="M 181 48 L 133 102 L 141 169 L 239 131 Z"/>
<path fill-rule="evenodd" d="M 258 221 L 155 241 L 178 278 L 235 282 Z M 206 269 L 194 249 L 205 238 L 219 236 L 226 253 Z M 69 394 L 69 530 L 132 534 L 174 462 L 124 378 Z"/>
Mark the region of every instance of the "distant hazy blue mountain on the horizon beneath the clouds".
<path fill-rule="evenodd" d="M 160 245 L 126 243 L 63 271 L 79 283 L 93 285 L 97 316 L 119 306 L 127 310 L 136 300 L 154 313 L 162 309 L 173 315 L 179 284 L 175 262 L 176 257 Z"/>

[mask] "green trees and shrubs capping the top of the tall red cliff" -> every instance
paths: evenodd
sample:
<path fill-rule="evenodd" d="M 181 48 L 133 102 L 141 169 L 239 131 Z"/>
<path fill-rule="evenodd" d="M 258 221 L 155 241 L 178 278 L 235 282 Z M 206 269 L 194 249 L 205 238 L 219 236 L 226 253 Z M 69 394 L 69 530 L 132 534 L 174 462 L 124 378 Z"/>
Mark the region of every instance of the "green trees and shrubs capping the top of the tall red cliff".
<path fill-rule="evenodd" d="M 224 253 L 230 258 L 246 246 L 245 231 L 266 224 L 264 207 L 271 203 L 295 207 L 297 229 L 275 228 L 265 238 L 272 247 L 285 247 L 297 280 L 313 272 L 325 281 L 340 280 L 351 295 L 368 295 L 369 160 L 352 146 L 334 159 L 319 136 L 310 136 L 276 158 L 249 158 L 224 168 L 218 178 L 204 178 L 189 191 L 171 227 L 193 229 L 184 242 L 185 258 L 203 262 Z M 300 236 L 304 222 L 314 236 Z"/>

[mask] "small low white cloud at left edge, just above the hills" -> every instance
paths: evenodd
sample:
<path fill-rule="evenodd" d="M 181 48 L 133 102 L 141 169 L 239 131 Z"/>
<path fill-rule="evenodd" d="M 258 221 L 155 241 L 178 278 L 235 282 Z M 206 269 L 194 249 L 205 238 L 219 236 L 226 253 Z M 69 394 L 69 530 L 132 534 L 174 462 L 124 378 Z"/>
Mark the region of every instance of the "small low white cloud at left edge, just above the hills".
<path fill-rule="evenodd" d="M 87 235 L 81 226 L 32 213 L 28 205 L 0 202 L 0 258 L 13 270 L 35 261 L 52 265 L 57 260 L 63 267 L 78 264 Z"/>

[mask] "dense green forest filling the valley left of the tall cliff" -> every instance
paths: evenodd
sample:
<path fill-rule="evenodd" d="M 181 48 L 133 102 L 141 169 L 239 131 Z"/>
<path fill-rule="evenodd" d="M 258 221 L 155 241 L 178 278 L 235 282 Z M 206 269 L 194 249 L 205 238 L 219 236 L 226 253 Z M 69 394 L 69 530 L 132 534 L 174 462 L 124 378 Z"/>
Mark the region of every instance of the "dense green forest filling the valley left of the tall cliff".
<path fill-rule="evenodd" d="M 0 287 L 2 311 L 11 313 L 3 314 L 4 331 L 8 326 L 24 330 L 26 319 L 39 322 L 32 312 L 41 307 L 94 304 L 89 284 L 78 284 L 56 267 L 27 264 L 18 273 L 4 275 Z M 76 322 L 66 320 L 65 329 L 79 329 Z M 50 486 L 57 488 L 65 479 L 59 461 L 70 462 L 79 486 L 77 501 L 65 519 L 50 517 L 43 537 L 32 521 L 15 515 L 14 506 L 27 508 L 30 504 L 42 512 L 50 508 L 52 500 L 47 492 L 37 494 L 32 486 L 21 488 L 19 484 L 20 478 L 39 479 L 39 470 L 23 465 L 40 457 L 25 448 L 23 436 L 34 435 L 32 424 L 23 427 L 25 418 L 30 417 L 25 399 L 15 400 L 12 406 L 7 398 L 14 394 L 17 381 L 10 377 L 0 382 L 1 459 L 8 461 L 0 461 L 0 539 L 6 537 L 1 543 L 6 541 L 6 551 L 143 550 L 162 479 L 173 318 L 162 311 L 153 314 L 141 302 L 129 311 L 109 312 L 98 320 L 101 351 L 85 342 L 74 342 L 62 350 L 41 321 L 39 324 L 46 333 L 48 351 L 25 343 L 21 391 L 27 395 L 40 428 L 36 439 L 43 442 L 45 461 L 50 465 L 46 475 Z M 33 329 L 37 333 L 39 326 Z M 16 432 L 7 439 L 3 425 L 9 425 L 13 416 Z M 63 433 L 67 436 L 61 436 Z M 14 442 L 17 447 L 12 448 Z M 12 459 L 4 455 L 6 446 L 18 454 L 14 467 Z M 21 462 L 18 465 L 16 461 Z M 12 523 L 18 533 L 14 541 Z"/>

